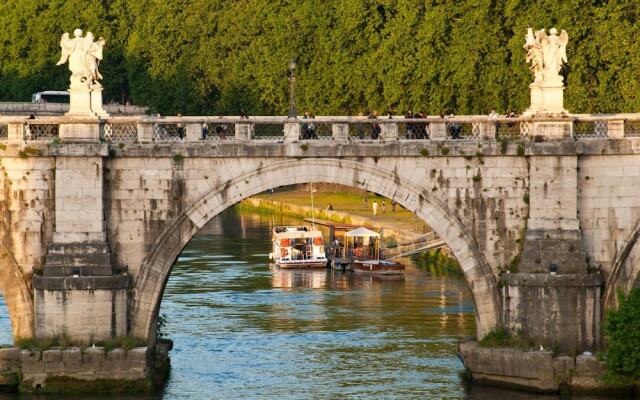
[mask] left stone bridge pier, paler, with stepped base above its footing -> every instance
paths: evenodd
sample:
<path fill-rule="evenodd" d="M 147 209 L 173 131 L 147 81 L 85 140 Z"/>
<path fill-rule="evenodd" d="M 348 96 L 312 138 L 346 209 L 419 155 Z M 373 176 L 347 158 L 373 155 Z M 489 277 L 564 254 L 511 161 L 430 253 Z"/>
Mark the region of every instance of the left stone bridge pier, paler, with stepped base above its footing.
<path fill-rule="evenodd" d="M 72 128 L 89 137 L 97 125 Z M 56 158 L 55 232 L 42 275 L 33 278 L 36 337 L 89 343 L 127 334 L 129 277 L 114 270 L 107 240 L 103 153 Z"/>

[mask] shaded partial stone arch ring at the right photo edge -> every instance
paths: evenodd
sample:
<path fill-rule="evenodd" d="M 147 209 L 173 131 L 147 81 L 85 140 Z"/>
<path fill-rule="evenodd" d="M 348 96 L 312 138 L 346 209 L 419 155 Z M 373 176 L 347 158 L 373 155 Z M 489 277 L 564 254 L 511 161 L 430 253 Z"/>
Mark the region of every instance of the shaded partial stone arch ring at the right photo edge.
<path fill-rule="evenodd" d="M 618 304 L 617 291 L 623 293 L 636 285 L 640 273 L 640 221 L 636 223 L 624 247 L 618 251 L 607 278 L 604 291 L 604 310 Z"/>

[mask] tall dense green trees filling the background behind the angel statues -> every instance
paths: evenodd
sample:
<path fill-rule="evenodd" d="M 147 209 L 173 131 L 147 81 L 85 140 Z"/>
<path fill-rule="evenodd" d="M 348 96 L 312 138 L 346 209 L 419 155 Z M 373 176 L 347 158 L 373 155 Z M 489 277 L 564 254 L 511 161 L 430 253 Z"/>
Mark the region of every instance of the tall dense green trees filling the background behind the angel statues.
<path fill-rule="evenodd" d="M 107 39 L 107 100 L 164 114 L 284 114 L 287 64 L 316 114 L 521 111 L 528 26 L 570 35 L 566 107 L 640 108 L 635 0 L 3 0 L 0 100 L 65 89 L 58 41 Z"/>

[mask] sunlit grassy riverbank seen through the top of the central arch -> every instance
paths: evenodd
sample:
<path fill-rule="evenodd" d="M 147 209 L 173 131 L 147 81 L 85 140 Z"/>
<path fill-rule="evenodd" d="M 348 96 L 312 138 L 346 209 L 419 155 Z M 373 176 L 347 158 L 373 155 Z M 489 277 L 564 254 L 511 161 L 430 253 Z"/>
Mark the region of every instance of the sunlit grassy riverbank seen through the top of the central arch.
<path fill-rule="evenodd" d="M 366 202 L 363 196 L 355 193 L 314 193 L 314 204 L 310 206 L 310 195 L 307 191 L 283 191 L 272 194 L 260 194 L 243 200 L 239 207 L 242 210 L 276 214 L 297 218 L 323 219 L 327 221 L 366 226 L 376 230 L 384 228 L 385 237 L 398 243 L 412 243 L 426 234 L 431 229 L 411 211 L 399 204 L 393 211 L 391 202 L 384 197 L 367 195 Z M 378 213 L 373 215 L 371 210 L 373 202 L 378 203 Z M 386 210 L 382 210 L 382 202 L 386 201 Z M 331 204 L 332 210 L 328 210 Z"/>

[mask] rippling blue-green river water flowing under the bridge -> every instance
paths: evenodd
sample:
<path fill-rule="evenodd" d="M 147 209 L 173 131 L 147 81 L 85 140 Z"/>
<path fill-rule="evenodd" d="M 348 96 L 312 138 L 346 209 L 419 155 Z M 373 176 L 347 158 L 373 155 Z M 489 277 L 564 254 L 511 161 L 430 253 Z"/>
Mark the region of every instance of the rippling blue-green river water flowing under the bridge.
<path fill-rule="evenodd" d="M 456 343 L 475 326 L 459 274 L 408 259 L 404 279 L 272 270 L 270 232 L 282 223 L 300 221 L 228 210 L 188 244 L 161 307 L 175 342 L 170 379 L 131 398 L 538 398 L 463 385 Z"/>

